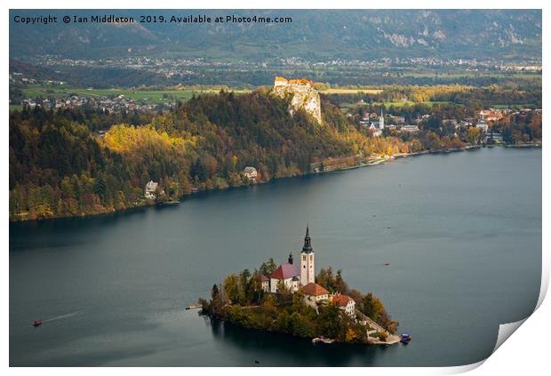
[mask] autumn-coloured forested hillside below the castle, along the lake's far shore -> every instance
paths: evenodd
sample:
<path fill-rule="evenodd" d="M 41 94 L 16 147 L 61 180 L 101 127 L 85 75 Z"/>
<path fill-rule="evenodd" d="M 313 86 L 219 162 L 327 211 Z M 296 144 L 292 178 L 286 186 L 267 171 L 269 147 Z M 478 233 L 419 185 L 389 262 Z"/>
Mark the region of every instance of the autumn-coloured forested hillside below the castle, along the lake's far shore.
<path fill-rule="evenodd" d="M 267 92 L 220 92 L 153 119 L 42 108 L 12 112 L 10 218 L 78 216 L 147 204 L 148 180 L 160 182 L 164 199 L 179 198 L 192 188 L 248 184 L 246 165 L 256 166 L 259 180 L 268 181 L 307 173 L 310 163 L 326 156 L 406 148 L 397 139 L 368 138 L 330 104 L 323 106 L 323 126 L 301 111 L 291 117 L 287 108 L 285 100 Z M 95 132 L 98 124 L 108 127 L 113 120 L 121 123 L 103 137 Z"/>

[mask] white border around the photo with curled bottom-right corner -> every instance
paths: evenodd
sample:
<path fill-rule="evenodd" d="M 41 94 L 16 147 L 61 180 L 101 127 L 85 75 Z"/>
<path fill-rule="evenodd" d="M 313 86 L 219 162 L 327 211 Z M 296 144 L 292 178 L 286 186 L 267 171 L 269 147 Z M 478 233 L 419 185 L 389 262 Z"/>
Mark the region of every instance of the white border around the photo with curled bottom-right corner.
<path fill-rule="evenodd" d="M 411 3 L 406 0 L 395 0 L 392 3 L 387 3 L 383 1 L 358 1 L 358 0 L 339 0 L 339 1 L 328 1 L 328 0 L 302 0 L 297 2 L 296 0 L 279 0 L 271 2 L 259 3 L 258 1 L 252 0 L 237 0 L 233 2 L 221 1 L 221 0 L 204 0 L 202 2 L 187 3 L 182 1 L 164 1 L 163 4 L 152 3 L 151 1 L 144 0 L 96 0 L 93 4 L 89 3 L 76 3 L 74 1 L 68 0 L 53 0 L 50 2 L 39 2 L 39 1 L 7 1 L 4 3 L 4 15 L 6 18 L 4 20 L 9 20 L 9 9 L 543 9 L 542 11 L 542 63 L 544 65 L 545 71 L 545 61 L 548 54 L 548 48 L 546 48 L 546 42 L 549 41 L 547 37 L 547 25 L 549 24 L 549 12 L 548 8 L 551 8 L 551 2 L 548 1 L 537 1 L 537 0 L 524 0 L 522 2 L 512 1 L 512 0 L 491 0 L 491 1 L 475 1 L 475 0 L 463 0 L 460 3 L 456 2 L 445 2 L 443 0 L 419 0 L 415 3 Z M 152 6 L 155 5 L 155 6 Z M 4 92 L 2 97 L 4 98 L 4 106 L 1 106 L 2 115 L 0 118 L 4 119 L 4 122 L 9 117 L 9 108 L 8 103 L 8 71 L 9 71 L 9 60 L 8 60 L 8 49 L 9 49 L 9 21 L 4 22 L 3 33 L 2 33 L 2 51 L 4 52 L 4 59 L 2 60 L 2 65 L 4 67 L 4 80 L 7 85 L 4 87 Z M 543 76 L 543 103 L 544 108 L 547 104 L 547 90 L 549 88 L 549 79 L 547 75 Z M 6 122 L 7 123 L 7 122 Z M 549 125 L 551 126 L 551 125 Z M 544 128 L 545 129 L 545 128 Z M 9 138 L 7 137 L 8 126 L 4 126 L 4 153 L 2 154 L 2 164 L 0 168 L 2 169 L 2 174 L 4 177 L 8 176 L 9 172 L 9 161 L 7 150 L 9 148 Z M 544 131 L 545 132 L 545 131 Z M 543 167 L 542 167 L 542 192 L 549 192 L 549 173 L 548 165 L 545 163 L 548 160 L 547 148 L 543 148 Z M 3 237 L 3 289 L 2 289 L 2 302 L 4 309 L 2 310 L 2 318 L 4 323 L 4 341 L 2 342 L 2 356 L 4 358 L 4 364 L 7 367 L 9 365 L 9 228 L 8 228 L 8 192 L 6 192 L 6 197 L 2 201 L 2 209 L 4 216 L 2 216 L 3 224 L 2 227 L 2 237 Z M 499 340 L 502 340 L 499 344 L 503 343 L 504 340 L 507 340 L 509 335 L 513 332 L 515 334 L 510 340 L 507 340 L 501 348 L 499 345 L 494 349 L 499 351 L 495 352 L 492 356 L 488 358 L 487 361 L 482 361 L 477 364 L 467 364 L 459 367 L 422 367 L 422 368 L 392 368 L 392 367 L 372 367 L 373 370 L 353 370 L 352 372 L 385 372 L 387 375 L 398 375 L 403 372 L 407 372 L 412 375 L 427 375 L 427 374 L 450 374 L 450 373 L 459 373 L 467 372 L 476 369 L 476 374 L 531 374 L 536 372 L 541 372 L 546 369 L 549 365 L 548 354 L 551 345 L 549 345 L 549 340 L 547 340 L 547 327 L 549 324 L 547 318 L 550 317 L 551 308 L 549 308 L 548 301 L 544 301 L 544 298 L 547 293 L 547 287 L 549 284 L 549 236 L 547 235 L 549 230 L 548 226 L 548 208 L 549 200 L 546 195 L 542 196 L 542 280 L 541 280 L 541 290 L 539 293 L 538 306 L 536 308 L 537 312 L 528 317 L 525 321 L 523 320 L 520 324 L 523 324 L 521 329 L 515 330 L 520 326 L 519 323 L 506 324 L 500 326 L 499 331 Z M 542 304 L 543 303 L 543 304 Z M 459 344 L 459 346 L 462 346 Z M 478 368 L 481 364 L 483 367 Z M 283 372 L 300 372 L 301 368 L 286 368 Z M 10 368 L 10 372 L 13 374 L 28 374 L 34 372 L 44 373 L 46 376 L 53 374 L 72 374 L 76 370 L 72 368 Z M 107 372 L 108 374 L 115 374 L 121 372 L 116 368 L 102 368 L 100 372 Z M 130 371 L 124 370 L 123 372 Z M 315 368 L 311 372 L 316 374 L 330 374 L 335 370 L 327 368 Z M 92 374 L 96 373 L 97 370 L 92 368 L 79 368 L 79 373 L 83 374 Z M 266 375 L 275 375 L 276 373 L 282 372 L 278 368 L 262 368 L 258 370 L 254 367 L 252 368 L 132 368 L 131 372 L 135 372 L 138 375 L 145 375 L 151 372 L 163 372 L 166 374 L 180 374 L 181 372 L 200 372 L 211 374 L 214 372 L 229 372 L 229 374 L 252 374 L 262 372 Z"/>

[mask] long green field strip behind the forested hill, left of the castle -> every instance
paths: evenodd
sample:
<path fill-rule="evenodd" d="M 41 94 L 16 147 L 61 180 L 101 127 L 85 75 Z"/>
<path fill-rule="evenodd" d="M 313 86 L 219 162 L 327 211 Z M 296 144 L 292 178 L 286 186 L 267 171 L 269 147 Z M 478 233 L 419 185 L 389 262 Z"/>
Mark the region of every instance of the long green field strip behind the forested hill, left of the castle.
<path fill-rule="evenodd" d="M 110 97 L 123 94 L 124 97 L 136 100 L 139 104 L 158 104 L 168 103 L 175 100 L 189 100 L 193 94 L 204 92 L 219 92 L 218 89 L 202 89 L 202 90 L 140 90 L 140 89 L 83 89 L 64 86 L 41 86 L 29 85 L 23 89 L 25 98 L 63 98 L 69 95 L 78 95 L 86 97 Z M 247 90 L 232 90 L 232 92 L 242 93 L 249 92 Z"/>

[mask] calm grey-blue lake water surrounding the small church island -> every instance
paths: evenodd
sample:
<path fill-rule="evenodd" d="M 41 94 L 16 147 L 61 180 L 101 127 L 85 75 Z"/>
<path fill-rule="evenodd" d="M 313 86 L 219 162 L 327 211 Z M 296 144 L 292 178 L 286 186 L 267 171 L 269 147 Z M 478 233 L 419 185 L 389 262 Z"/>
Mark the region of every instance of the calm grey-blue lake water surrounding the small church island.
<path fill-rule="evenodd" d="M 228 273 L 296 257 L 307 222 L 316 268 L 374 292 L 408 346 L 314 346 L 184 309 Z M 10 224 L 10 364 L 471 364 L 491 354 L 499 324 L 531 314 L 540 277 L 540 149 L 416 156 Z"/>

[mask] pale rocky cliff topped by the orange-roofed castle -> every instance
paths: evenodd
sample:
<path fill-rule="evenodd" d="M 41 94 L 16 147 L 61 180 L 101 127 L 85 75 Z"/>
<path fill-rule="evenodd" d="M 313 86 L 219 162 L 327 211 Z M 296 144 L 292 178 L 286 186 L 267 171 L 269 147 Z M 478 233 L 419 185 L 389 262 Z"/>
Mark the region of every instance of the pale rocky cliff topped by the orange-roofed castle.
<path fill-rule="evenodd" d="M 306 80 L 290 80 L 276 77 L 274 94 L 280 98 L 290 94 L 291 104 L 289 113 L 294 115 L 300 108 L 315 118 L 318 124 L 322 124 L 322 102 L 319 93 L 314 89 L 313 84 Z"/>

